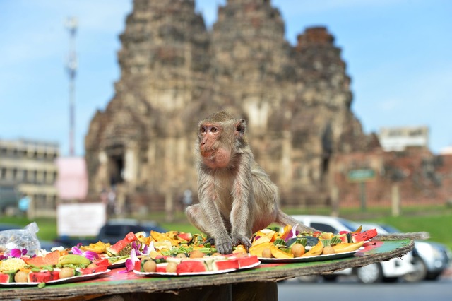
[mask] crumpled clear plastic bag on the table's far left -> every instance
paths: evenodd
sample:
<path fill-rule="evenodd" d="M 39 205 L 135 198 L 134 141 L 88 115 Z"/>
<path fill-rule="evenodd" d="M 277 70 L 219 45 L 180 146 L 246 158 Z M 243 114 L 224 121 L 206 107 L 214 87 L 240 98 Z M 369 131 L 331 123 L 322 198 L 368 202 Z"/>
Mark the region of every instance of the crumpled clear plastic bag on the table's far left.
<path fill-rule="evenodd" d="M 32 222 L 23 229 L 0 231 L 0 252 L 8 252 L 11 249 L 27 249 L 27 255 L 38 254 L 41 243 L 37 239 L 36 233 L 39 230 L 37 223 Z"/>

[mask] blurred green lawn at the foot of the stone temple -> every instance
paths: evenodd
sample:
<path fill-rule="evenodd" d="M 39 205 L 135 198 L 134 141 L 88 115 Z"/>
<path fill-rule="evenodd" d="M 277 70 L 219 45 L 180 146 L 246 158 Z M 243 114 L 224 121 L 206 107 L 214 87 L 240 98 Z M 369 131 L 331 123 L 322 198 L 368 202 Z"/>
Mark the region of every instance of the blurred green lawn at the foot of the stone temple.
<path fill-rule="evenodd" d="M 428 209 L 428 210 L 427 210 Z M 299 211 L 285 210 L 289 214 L 328 214 L 327 211 Z M 392 217 L 387 209 L 369 208 L 366 212 L 358 210 L 341 211 L 340 216 L 351 220 L 362 220 L 377 223 L 386 223 L 398 228 L 402 232 L 426 231 L 430 233 L 432 241 L 441 242 L 452 249 L 452 208 L 404 208 L 403 214 Z M 177 213 L 174 222 L 165 221 L 165 213 L 154 213 L 147 220 L 155 220 L 167 230 L 178 230 L 182 232 L 199 232 L 188 223 L 184 213 Z M 1 217 L 0 223 L 12 223 L 20 226 L 28 225 L 32 220 L 20 217 Z M 35 220 L 40 228 L 37 237 L 40 240 L 54 240 L 57 238 L 57 220 L 53 218 L 37 218 Z"/>

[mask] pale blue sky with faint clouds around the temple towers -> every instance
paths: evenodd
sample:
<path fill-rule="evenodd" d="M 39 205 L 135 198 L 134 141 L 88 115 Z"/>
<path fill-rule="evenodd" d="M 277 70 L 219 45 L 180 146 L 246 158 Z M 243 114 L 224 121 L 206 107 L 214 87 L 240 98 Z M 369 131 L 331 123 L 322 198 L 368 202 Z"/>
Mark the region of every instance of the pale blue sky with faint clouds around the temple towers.
<path fill-rule="evenodd" d="M 352 78 L 352 110 L 364 131 L 429 126 L 430 148 L 452 146 L 452 1 L 273 0 L 286 38 L 326 26 Z M 196 1 L 210 26 L 225 0 Z M 97 109 L 119 80 L 119 34 L 131 0 L 0 1 L 0 138 L 60 144 L 69 155 L 69 33 L 76 35 L 76 155 Z"/>

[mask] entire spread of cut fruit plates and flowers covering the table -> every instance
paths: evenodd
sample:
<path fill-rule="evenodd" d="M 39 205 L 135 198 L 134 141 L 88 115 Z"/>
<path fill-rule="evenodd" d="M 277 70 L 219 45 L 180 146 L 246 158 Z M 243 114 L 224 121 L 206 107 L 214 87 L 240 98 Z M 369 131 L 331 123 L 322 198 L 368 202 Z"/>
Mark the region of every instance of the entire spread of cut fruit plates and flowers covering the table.
<path fill-rule="evenodd" d="M 203 234 L 179 231 L 129 232 L 115 244 L 96 242 L 41 250 L 28 256 L 26 249 L 0 254 L 0 285 L 38 285 L 85 281 L 114 272 L 114 268 L 137 276 L 189 276 L 229 273 L 261 263 L 321 261 L 352 256 L 376 230 L 353 232 L 299 232 L 297 225 L 266 228 L 251 238 L 251 247 L 234 247 L 219 254 Z"/>

